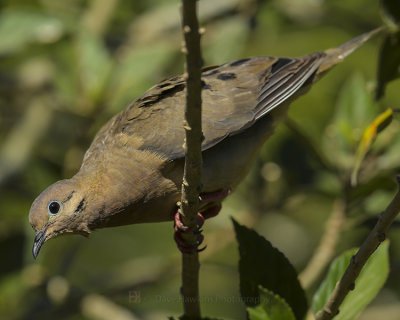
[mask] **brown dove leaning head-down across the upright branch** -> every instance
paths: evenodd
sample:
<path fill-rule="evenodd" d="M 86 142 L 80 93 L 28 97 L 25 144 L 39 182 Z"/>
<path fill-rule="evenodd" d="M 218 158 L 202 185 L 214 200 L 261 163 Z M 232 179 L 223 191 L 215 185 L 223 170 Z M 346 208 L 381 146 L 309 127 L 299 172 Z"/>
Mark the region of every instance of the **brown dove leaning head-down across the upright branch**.
<path fill-rule="evenodd" d="M 204 68 L 200 211 L 218 211 L 290 103 L 381 30 L 299 58 L 250 57 Z M 163 80 L 112 117 L 79 171 L 33 201 L 35 259 L 46 241 L 63 234 L 89 236 L 99 228 L 174 219 L 185 158 L 185 81 L 182 75 Z"/>

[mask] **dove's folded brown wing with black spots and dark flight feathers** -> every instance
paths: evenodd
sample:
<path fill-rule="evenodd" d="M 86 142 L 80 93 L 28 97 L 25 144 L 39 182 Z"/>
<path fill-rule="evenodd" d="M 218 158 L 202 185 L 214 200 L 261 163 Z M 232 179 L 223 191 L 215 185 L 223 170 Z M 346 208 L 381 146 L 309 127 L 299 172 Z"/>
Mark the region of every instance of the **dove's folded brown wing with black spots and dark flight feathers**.
<path fill-rule="evenodd" d="M 254 57 L 205 69 L 203 150 L 242 132 L 287 100 L 315 73 L 323 55 L 299 59 Z M 136 148 L 156 152 L 166 159 L 184 157 L 185 94 L 182 76 L 152 87 L 99 131 L 85 159 L 101 152 L 99 146 L 113 144 L 124 136 L 126 143 L 133 141 Z"/>

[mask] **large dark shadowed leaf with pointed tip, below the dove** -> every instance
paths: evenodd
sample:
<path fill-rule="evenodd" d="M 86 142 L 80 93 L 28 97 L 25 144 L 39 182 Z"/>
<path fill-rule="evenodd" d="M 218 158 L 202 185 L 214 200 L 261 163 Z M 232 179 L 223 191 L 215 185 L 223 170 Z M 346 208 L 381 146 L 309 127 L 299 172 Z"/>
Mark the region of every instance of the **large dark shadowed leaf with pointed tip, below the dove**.
<path fill-rule="evenodd" d="M 289 260 L 257 232 L 232 221 L 239 243 L 240 293 L 244 303 L 249 307 L 259 303 L 261 285 L 285 299 L 296 319 L 302 319 L 307 312 L 307 299 Z"/>

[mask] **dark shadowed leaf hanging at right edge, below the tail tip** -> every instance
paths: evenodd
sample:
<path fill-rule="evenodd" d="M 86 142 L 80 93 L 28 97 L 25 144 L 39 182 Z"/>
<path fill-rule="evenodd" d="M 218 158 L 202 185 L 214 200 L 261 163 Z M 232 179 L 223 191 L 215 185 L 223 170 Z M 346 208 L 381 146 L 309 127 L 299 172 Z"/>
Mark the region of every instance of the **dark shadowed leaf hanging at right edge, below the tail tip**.
<path fill-rule="evenodd" d="M 378 75 L 375 99 L 385 94 L 386 85 L 400 76 L 400 31 L 387 34 L 378 58 Z"/>

